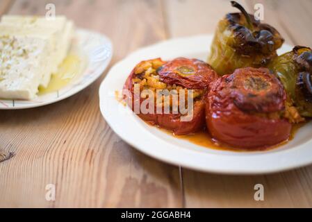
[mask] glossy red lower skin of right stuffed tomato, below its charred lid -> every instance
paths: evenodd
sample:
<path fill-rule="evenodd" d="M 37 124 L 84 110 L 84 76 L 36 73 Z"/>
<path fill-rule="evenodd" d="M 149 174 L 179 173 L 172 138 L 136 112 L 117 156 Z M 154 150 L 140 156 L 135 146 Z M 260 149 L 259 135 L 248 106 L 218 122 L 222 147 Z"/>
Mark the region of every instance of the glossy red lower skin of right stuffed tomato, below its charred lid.
<path fill-rule="evenodd" d="M 211 136 L 235 148 L 265 148 L 286 141 L 292 128 L 286 119 L 243 112 L 230 96 L 221 93 L 227 76 L 212 83 L 206 97 L 206 126 Z"/>

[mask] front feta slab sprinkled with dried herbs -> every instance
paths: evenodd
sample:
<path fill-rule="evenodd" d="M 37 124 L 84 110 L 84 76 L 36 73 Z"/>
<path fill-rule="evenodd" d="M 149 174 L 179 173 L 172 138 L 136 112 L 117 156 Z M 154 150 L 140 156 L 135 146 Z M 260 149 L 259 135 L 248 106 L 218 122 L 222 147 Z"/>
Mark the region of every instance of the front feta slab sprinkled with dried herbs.
<path fill-rule="evenodd" d="M 49 44 L 36 37 L 0 34 L 0 97 L 34 99 L 48 69 Z"/>

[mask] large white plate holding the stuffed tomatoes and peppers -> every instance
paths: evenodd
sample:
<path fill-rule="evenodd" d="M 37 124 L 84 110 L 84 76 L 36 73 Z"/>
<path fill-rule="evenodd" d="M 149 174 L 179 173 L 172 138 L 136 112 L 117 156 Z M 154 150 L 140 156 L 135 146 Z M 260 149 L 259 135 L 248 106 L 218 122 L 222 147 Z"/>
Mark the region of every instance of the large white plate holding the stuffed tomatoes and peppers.
<path fill-rule="evenodd" d="M 233 174 L 272 173 L 312 163 L 311 122 L 299 129 L 295 139 L 271 151 L 217 151 L 177 139 L 147 125 L 115 99 L 131 69 L 141 60 L 179 56 L 206 60 L 212 35 L 199 35 L 168 40 L 132 53 L 108 72 L 99 89 L 101 113 L 109 126 L 125 142 L 158 160 L 199 171 Z M 290 51 L 284 44 L 280 53 Z"/>

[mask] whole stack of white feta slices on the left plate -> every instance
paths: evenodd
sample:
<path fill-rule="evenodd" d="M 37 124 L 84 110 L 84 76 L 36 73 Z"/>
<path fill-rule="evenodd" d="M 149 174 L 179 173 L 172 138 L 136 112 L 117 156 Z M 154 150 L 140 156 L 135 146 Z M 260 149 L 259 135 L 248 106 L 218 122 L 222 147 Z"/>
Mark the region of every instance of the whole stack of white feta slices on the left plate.
<path fill-rule="evenodd" d="M 67 56 L 73 31 L 73 23 L 65 17 L 3 16 L 0 98 L 34 99 L 38 87 L 47 87 L 51 74 Z"/>

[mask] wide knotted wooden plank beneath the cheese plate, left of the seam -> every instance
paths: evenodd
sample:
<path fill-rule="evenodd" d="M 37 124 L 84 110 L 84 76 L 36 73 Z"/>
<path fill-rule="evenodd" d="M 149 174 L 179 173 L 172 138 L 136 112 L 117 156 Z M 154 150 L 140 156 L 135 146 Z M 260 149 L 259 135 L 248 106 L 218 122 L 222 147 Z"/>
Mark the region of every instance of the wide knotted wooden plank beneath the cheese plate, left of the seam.
<path fill-rule="evenodd" d="M 77 26 L 108 35 L 113 64 L 139 46 L 165 39 L 159 1 L 15 1 L 10 14 L 44 15 L 45 4 Z M 101 80 L 65 101 L 0 111 L 0 207 L 181 207 L 179 168 L 135 151 L 99 112 Z M 47 201 L 46 185 L 56 185 Z"/>

